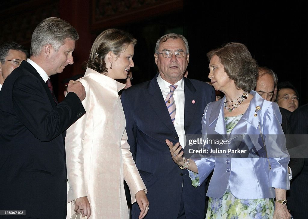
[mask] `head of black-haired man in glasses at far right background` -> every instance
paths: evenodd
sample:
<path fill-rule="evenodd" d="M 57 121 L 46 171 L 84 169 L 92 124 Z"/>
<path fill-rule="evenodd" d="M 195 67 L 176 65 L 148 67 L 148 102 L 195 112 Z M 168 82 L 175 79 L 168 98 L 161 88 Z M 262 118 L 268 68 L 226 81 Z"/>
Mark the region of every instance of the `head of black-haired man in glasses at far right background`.
<path fill-rule="evenodd" d="M 298 108 L 298 92 L 289 81 L 284 81 L 278 84 L 278 94 L 276 102 L 281 108 L 284 108 L 291 112 Z"/>

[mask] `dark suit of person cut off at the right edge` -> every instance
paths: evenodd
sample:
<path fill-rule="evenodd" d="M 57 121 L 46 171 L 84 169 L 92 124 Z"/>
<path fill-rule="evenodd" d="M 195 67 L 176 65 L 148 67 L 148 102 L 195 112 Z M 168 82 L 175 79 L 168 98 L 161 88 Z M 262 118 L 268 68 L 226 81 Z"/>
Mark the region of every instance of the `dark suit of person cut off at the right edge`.
<path fill-rule="evenodd" d="M 300 145 L 296 150 L 302 154 L 304 158 L 294 158 L 301 162 L 304 160 L 302 170 L 291 181 L 291 190 L 287 195 L 288 209 L 296 219 L 306 219 L 308 215 L 307 198 L 308 198 L 308 158 L 307 158 L 307 142 L 308 142 L 308 104 L 297 108 L 290 116 L 288 122 L 289 128 L 287 134 L 294 135 L 294 146 Z M 290 154 L 292 156 L 292 154 Z M 299 165 L 298 165 L 299 166 Z"/>

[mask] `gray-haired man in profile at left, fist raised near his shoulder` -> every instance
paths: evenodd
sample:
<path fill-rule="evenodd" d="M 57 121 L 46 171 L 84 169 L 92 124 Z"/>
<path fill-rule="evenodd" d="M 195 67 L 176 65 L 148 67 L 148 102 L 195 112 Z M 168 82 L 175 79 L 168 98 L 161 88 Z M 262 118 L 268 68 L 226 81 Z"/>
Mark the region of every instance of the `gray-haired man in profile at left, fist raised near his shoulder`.
<path fill-rule="evenodd" d="M 5 218 L 65 218 L 65 130 L 85 110 L 80 82 L 71 81 L 57 103 L 46 82 L 73 64 L 79 35 L 68 22 L 46 18 L 34 30 L 30 59 L 22 61 L 0 92 L 0 209 Z"/>

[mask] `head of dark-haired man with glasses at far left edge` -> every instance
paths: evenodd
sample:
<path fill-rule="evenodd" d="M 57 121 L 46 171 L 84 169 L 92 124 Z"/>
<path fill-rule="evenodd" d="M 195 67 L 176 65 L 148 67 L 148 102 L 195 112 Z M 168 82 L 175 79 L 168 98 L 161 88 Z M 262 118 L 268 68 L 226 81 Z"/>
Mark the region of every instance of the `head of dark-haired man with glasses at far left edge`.
<path fill-rule="evenodd" d="M 6 77 L 28 56 L 26 47 L 18 43 L 7 41 L 0 45 L 0 91 Z"/>

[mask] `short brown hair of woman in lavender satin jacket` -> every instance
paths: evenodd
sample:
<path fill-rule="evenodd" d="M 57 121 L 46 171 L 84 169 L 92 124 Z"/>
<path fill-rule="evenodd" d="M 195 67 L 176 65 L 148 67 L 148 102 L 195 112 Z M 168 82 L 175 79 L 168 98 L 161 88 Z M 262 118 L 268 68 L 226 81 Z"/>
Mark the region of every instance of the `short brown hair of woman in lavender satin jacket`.
<path fill-rule="evenodd" d="M 214 55 L 220 58 L 225 72 L 238 89 L 250 92 L 256 87 L 258 78 L 257 61 L 251 57 L 247 47 L 241 43 L 227 43 L 207 54 L 210 61 Z"/>

